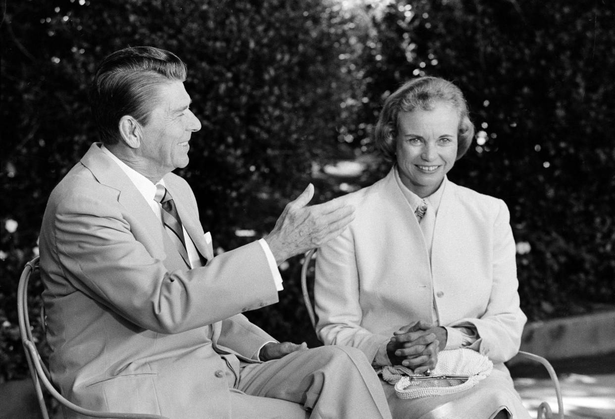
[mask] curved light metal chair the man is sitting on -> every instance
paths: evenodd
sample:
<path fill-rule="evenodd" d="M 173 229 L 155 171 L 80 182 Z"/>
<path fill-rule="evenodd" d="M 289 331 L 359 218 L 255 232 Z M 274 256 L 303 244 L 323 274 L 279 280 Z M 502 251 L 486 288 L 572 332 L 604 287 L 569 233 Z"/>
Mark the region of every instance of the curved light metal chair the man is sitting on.
<path fill-rule="evenodd" d="M 58 390 L 56 390 L 55 386 L 51 383 L 49 369 L 47 369 L 47 366 L 42 361 L 41 355 L 36 348 L 30 327 L 30 318 L 28 316 L 28 283 L 32 275 L 39 275 L 38 257 L 35 257 L 26 264 L 22 276 L 19 278 L 19 286 L 17 289 L 17 315 L 19 318 L 19 331 L 22 335 L 23 349 L 26 353 L 28 367 L 30 368 L 34 390 L 36 391 L 36 397 L 39 402 L 39 407 L 41 408 L 43 419 L 49 419 L 47 404 L 42 391 L 43 386 L 55 400 L 60 402 L 60 404 L 84 416 L 110 419 L 169 419 L 161 415 L 152 415 L 148 413 L 96 412 L 94 410 L 84 409 L 83 407 L 69 402 Z M 43 311 L 41 311 L 41 324 L 43 327 L 45 324 L 44 322 L 45 316 Z"/>

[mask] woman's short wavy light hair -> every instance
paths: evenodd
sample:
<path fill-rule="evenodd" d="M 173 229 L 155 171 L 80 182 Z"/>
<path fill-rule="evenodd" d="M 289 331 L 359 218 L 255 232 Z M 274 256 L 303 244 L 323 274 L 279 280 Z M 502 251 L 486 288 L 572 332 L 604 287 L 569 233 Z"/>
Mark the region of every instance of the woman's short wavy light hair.
<path fill-rule="evenodd" d="M 415 109 L 431 111 L 435 104 L 445 103 L 456 109 L 459 115 L 457 133 L 457 159 L 466 154 L 472 138 L 474 138 L 474 123 L 470 120 L 466 99 L 461 89 L 453 83 L 440 77 L 418 77 L 410 80 L 395 90 L 384 101 L 375 129 L 376 146 L 384 157 L 395 160 L 395 140 L 397 139 L 397 116 L 400 111 L 412 112 Z"/>

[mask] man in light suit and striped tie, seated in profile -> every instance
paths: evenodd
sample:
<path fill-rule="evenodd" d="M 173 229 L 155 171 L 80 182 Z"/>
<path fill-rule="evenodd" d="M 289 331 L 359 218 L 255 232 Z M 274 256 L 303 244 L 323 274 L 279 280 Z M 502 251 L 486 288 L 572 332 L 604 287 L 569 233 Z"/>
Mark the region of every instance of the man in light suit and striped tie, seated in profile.
<path fill-rule="evenodd" d="M 214 257 L 192 190 L 171 173 L 200 129 L 185 78 L 179 58 L 151 47 L 98 68 L 102 143 L 54 189 L 41 230 L 55 383 L 106 412 L 390 418 L 359 350 L 279 343 L 241 314 L 276 303 L 277 264 L 338 235 L 354 209 L 306 206 L 310 185 L 264 239 Z"/>

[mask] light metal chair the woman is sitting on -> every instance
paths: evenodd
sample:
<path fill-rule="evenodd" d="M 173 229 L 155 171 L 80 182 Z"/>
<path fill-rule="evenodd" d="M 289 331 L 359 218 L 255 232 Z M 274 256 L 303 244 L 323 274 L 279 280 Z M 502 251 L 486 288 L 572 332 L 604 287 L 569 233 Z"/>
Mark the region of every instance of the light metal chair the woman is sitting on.
<path fill-rule="evenodd" d="M 303 266 L 301 267 L 301 292 L 303 292 L 303 301 L 305 303 L 306 309 L 308 310 L 309 319 L 312 322 L 312 327 L 316 327 L 316 316 L 314 313 L 314 306 L 312 305 L 312 299 L 309 296 L 309 288 L 308 288 L 308 271 L 312 260 L 316 259 L 316 251 L 317 249 L 312 249 L 305 254 L 303 260 Z M 555 387 L 555 394 L 557 396 L 557 407 L 558 412 L 557 416 L 554 416 L 553 411 L 549 403 L 542 402 L 538 406 L 538 419 L 564 419 L 564 404 L 563 399 L 561 398 L 561 387 L 560 381 L 557 378 L 557 374 L 555 374 L 554 368 L 551 366 L 550 362 L 547 359 L 542 358 L 542 356 L 535 355 L 533 353 L 519 351 L 515 357 L 527 359 L 529 361 L 539 362 L 542 364 L 549 372 L 549 376 L 553 382 Z"/>

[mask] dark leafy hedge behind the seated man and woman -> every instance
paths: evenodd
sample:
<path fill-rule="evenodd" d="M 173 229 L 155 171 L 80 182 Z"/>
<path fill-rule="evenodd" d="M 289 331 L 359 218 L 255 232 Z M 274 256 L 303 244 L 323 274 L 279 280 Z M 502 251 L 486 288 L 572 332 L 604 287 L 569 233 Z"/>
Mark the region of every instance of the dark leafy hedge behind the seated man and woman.
<path fill-rule="evenodd" d="M 101 58 L 129 45 L 156 45 L 188 63 L 203 128 L 180 174 L 218 251 L 268 232 L 309 181 L 318 202 L 382 176 L 387 166 L 370 139 L 382 100 L 429 74 L 466 92 L 476 144 L 450 178 L 509 205 L 528 316 L 614 302 L 609 0 L 24 0 L 2 8 L 0 381 L 25 374 L 15 292 L 38 252 L 49 192 L 97 139 L 87 84 Z M 323 170 L 340 159 L 365 170 L 352 178 Z M 280 340 L 313 346 L 300 259 L 282 266 L 281 302 L 248 315 Z"/>

